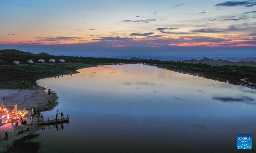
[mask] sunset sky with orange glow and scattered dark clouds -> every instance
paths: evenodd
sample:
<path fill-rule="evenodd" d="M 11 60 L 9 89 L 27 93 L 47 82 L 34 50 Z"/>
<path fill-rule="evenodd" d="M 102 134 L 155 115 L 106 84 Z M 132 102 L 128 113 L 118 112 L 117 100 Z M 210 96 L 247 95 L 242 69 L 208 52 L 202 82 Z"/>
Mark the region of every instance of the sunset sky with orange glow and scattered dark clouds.
<path fill-rule="evenodd" d="M 0 8 L 0 49 L 256 52 L 256 0 L 11 0 Z"/>

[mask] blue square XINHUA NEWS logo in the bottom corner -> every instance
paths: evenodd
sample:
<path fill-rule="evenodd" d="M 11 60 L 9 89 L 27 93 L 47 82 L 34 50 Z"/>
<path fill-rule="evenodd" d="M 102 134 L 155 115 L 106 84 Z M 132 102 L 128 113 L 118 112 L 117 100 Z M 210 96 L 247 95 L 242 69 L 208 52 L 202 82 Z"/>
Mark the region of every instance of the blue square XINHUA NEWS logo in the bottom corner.
<path fill-rule="evenodd" d="M 252 149 L 252 135 L 237 135 L 236 136 L 236 148 L 237 149 Z"/>

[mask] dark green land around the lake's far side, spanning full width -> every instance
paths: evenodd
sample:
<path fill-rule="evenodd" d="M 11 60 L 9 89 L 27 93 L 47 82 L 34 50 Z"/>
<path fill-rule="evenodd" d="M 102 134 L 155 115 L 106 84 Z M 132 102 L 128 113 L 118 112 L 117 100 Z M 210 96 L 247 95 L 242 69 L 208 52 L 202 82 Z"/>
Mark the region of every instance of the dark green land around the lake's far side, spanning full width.
<path fill-rule="evenodd" d="M 44 54 L 43 54 L 44 55 Z M 240 83 L 240 79 L 253 77 L 256 78 L 256 67 L 237 66 L 237 65 L 208 65 L 203 63 L 185 63 L 170 62 L 159 60 L 124 60 L 116 58 L 96 58 L 96 57 L 74 57 L 74 56 L 31 56 L 31 55 L 0 55 L 0 59 L 4 62 L 0 65 L 0 88 L 16 88 L 26 89 L 36 85 L 36 80 L 48 77 L 57 77 L 58 75 L 69 75 L 77 73 L 77 69 L 95 67 L 97 65 L 107 65 L 116 63 L 146 63 L 155 65 L 159 68 L 169 70 L 177 70 L 186 73 L 196 74 L 208 79 L 218 80 L 229 83 Z M 27 64 L 27 61 L 34 59 L 35 63 Z M 38 63 L 37 60 L 44 59 L 45 63 Z M 59 61 L 64 59 L 66 63 L 49 63 L 50 59 Z M 14 65 L 14 60 L 20 61 L 21 64 Z M 11 62 L 8 62 L 11 61 Z M 58 74 L 57 74 L 58 73 Z M 24 84 L 26 81 L 26 84 Z M 236 83 L 237 82 L 237 83 Z"/>

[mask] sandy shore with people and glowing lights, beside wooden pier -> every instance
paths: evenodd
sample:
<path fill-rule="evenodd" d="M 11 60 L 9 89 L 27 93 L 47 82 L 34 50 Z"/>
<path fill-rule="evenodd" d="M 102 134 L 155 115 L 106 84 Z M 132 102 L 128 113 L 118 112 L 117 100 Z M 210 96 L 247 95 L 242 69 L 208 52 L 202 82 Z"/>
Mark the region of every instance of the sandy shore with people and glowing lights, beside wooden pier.
<path fill-rule="evenodd" d="M 3 99 L 4 98 L 4 99 Z M 57 94 L 51 90 L 51 94 L 48 95 L 48 89 L 47 90 L 19 90 L 19 89 L 0 89 L 0 102 L 4 102 L 5 108 L 12 111 L 14 109 L 14 105 L 17 104 L 17 109 L 24 110 L 24 108 L 28 107 L 28 118 L 25 119 L 28 123 L 27 125 L 22 125 L 21 121 L 14 121 L 14 124 L 11 125 L 11 123 L 4 124 L 0 126 L 0 152 L 6 152 L 8 147 L 11 147 L 13 142 L 15 140 L 20 139 L 23 136 L 31 135 L 36 130 L 44 127 L 42 125 L 38 125 L 36 121 L 32 122 L 31 127 L 31 121 L 29 120 L 29 117 L 31 116 L 31 109 L 33 107 L 36 108 L 39 107 L 40 112 L 44 114 L 44 111 L 52 110 L 55 106 L 58 105 L 57 101 L 58 97 Z M 51 101 L 51 105 L 48 105 L 48 100 Z M 12 107 L 13 106 L 13 107 Z M 1 116 L 2 117 L 2 116 Z M 38 120 L 39 116 L 35 116 L 34 120 Z M 16 127 L 15 123 L 18 122 L 19 125 Z M 29 127 L 29 131 L 25 131 Z M 23 130 L 24 133 L 18 134 L 20 130 Z M 8 140 L 5 140 L 4 133 L 5 131 L 8 131 Z"/>

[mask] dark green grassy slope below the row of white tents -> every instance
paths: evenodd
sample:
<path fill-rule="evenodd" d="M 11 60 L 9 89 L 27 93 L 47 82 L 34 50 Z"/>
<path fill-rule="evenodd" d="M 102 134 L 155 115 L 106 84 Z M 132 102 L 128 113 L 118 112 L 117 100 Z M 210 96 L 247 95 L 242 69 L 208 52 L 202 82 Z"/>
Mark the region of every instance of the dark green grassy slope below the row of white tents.
<path fill-rule="evenodd" d="M 95 67 L 97 65 L 84 63 L 33 63 L 0 66 L 0 88 L 32 89 L 39 87 L 36 80 L 57 77 L 58 74 L 76 74 L 77 69 Z M 58 73 L 58 74 L 57 74 Z M 24 84 L 26 81 L 26 84 Z"/>

